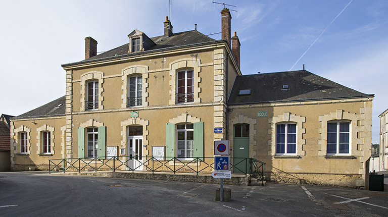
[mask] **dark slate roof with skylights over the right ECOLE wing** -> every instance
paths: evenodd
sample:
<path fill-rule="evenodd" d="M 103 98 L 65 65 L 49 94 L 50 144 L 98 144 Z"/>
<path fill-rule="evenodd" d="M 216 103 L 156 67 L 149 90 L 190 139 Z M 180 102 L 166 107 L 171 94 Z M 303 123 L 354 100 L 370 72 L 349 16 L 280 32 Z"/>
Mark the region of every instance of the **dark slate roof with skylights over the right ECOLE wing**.
<path fill-rule="evenodd" d="M 288 85 L 288 89 L 283 89 Z M 251 89 L 250 95 L 238 95 Z M 229 105 L 280 101 L 306 101 L 335 98 L 370 97 L 306 70 L 237 76 L 228 100 Z"/>

